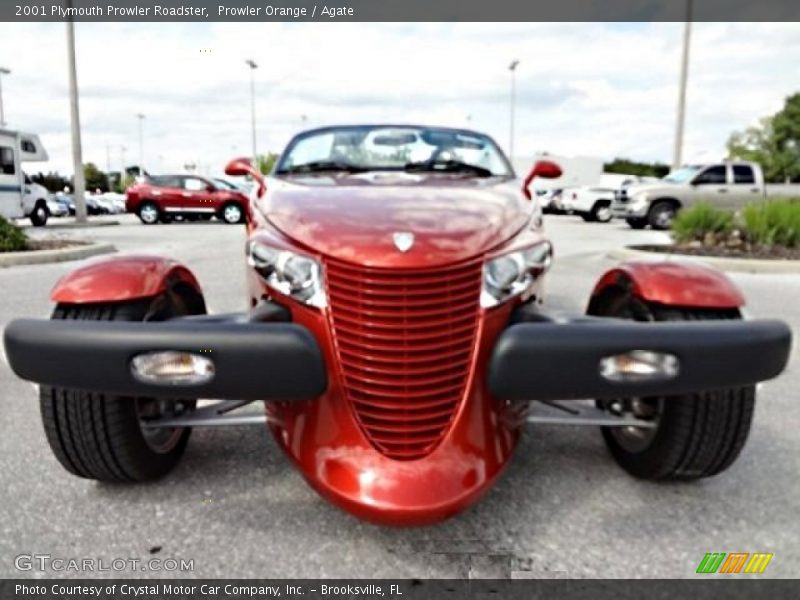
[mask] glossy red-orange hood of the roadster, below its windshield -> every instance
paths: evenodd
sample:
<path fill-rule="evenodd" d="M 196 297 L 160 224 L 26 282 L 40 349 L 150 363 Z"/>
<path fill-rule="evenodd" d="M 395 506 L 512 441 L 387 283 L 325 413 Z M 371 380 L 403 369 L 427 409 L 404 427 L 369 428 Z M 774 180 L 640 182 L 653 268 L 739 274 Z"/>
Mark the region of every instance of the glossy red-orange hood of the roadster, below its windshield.
<path fill-rule="evenodd" d="M 515 181 L 364 173 L 272 179 L 263 205 L 284 235 L 328 257 L 373 267 L 431 267 L 479 256 L 527 223 Z M 414 236 L 402 252 L 398 233 Z"/>

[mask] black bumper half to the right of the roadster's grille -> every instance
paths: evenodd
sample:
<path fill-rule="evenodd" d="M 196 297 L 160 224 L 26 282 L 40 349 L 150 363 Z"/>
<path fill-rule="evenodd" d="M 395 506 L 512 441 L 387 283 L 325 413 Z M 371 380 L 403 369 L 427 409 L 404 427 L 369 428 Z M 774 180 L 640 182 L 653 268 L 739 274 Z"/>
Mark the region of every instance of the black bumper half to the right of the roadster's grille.
<path fill-rule="evenodd" d="M 634 322 L 579 317 L 512 325 L 489 361 L 488 385 L 504 400 L 670 396 L 752 385 L 786 366 L 791 330 L 782 321 Z M 678 373 L 610 381 L 603 358 L 644 350 L 678 359 Z"/>

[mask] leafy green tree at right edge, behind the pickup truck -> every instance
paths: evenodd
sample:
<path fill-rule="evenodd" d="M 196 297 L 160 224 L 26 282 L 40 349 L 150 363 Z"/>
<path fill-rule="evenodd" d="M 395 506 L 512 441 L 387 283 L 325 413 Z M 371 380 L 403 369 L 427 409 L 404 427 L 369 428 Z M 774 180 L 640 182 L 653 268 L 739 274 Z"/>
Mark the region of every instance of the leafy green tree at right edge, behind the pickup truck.
<path fill-rule="evenodd" d="M 786 98 L 781 110 L 758 125 L 734 131 L 728 157 L 759 163 L 769 182 L 800 181 L 800 93 Z"/>

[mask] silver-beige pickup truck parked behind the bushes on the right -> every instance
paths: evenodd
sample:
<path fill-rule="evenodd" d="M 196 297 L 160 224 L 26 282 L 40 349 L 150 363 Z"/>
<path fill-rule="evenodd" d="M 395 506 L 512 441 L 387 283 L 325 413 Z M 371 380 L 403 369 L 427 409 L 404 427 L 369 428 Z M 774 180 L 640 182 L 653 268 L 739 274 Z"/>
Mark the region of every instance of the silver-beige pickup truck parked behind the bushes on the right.
<path fill-rule="evenodd" d="M 634 229 L 669 229 L 681 208 L 706 201 L 737 210 L 767 197 L 800 196 L 800 184 L 765 185 L 757 163 L 721 162 L 672 171 L 658 183 L 617 190 L 611 213 Z"/>

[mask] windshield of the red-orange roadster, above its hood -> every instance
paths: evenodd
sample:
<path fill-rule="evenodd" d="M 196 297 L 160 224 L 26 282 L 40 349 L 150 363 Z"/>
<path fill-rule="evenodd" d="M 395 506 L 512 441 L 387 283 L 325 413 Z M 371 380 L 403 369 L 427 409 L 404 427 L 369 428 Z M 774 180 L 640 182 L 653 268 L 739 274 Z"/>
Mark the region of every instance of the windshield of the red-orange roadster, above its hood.
<path fill-rule="evenodd" d="M 276 173 L 386 170 L 513 176 L 508 160 L 486 135 L 410 126 L 330 127 L 301 133 L 289 143 Z"/>

